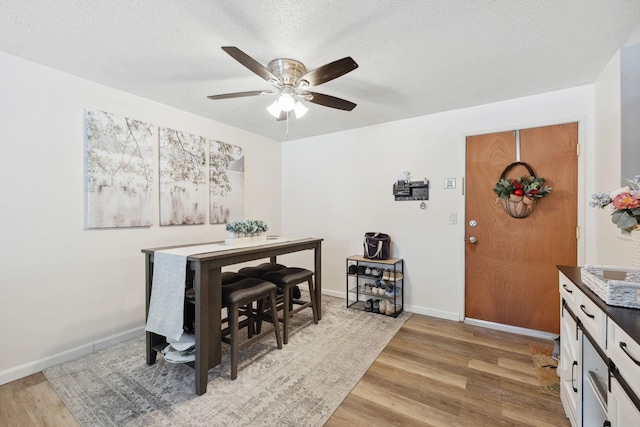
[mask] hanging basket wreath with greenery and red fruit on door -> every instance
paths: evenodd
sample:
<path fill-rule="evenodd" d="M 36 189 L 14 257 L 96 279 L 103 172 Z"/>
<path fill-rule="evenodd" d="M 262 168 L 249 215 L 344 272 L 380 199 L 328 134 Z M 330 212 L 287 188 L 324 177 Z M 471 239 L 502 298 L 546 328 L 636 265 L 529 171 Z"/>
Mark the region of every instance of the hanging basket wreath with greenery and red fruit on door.
<path fill-rule="evenodd" d="M 506 178 L 507 173 L 516 166 L 524 166 L 529 176 Z M 502 207 L 514 218 L 525 218 L 533 212 L 536 201 L 551 192 L 551 187 L 544 185 L 544 178 L 536 178 L 533 168 L 524 162 L 511 163 L 500 175 L 493 191 L 498 195 Z"/>

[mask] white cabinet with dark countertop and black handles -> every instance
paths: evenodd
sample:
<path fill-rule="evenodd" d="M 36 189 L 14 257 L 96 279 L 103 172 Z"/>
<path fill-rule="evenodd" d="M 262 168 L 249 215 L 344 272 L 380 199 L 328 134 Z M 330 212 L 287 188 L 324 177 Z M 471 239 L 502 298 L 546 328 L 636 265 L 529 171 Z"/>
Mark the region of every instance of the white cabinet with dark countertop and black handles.
<path fill-rule="evenodd" d="M 640 426 L 640 310 L 606 305 L 559 267 L 560 399 L 572 427 Z"/>

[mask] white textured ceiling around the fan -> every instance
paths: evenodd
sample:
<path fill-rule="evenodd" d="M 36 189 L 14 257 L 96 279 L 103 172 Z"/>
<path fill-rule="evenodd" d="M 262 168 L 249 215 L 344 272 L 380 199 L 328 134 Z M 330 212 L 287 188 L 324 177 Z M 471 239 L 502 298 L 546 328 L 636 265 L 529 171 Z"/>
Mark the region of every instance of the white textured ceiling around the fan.
<path fill-rule="evenodd" d="M 639 0 L 3 0 L 0 50 L 283 141 L 271 86 L 221 46 L 266 64 L 359 68 L 314 88 L 351 112 L 307 103 L 289 139 L 595 81 L 640 26 Z"/>

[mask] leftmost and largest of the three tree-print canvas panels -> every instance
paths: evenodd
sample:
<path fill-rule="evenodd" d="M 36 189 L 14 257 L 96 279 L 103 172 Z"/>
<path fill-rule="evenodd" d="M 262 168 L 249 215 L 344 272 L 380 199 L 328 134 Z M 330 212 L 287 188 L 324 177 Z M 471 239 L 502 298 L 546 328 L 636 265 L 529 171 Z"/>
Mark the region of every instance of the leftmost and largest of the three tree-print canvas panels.
<path fill-rule="evenodd" d="M 151 226 L 152 126 L 95 110 L 85 126 L 86 228 Z"/>

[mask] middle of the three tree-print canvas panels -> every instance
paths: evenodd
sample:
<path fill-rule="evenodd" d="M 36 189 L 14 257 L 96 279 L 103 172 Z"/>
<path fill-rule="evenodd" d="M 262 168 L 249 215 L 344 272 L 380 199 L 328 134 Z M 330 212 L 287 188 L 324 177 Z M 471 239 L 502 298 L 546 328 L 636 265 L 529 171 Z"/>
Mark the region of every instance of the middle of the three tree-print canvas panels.
<path fill-rule="evenodd" d="M 160 128 L 160 225 L 204 224 L 206 146 L 202 136 Z"/>

